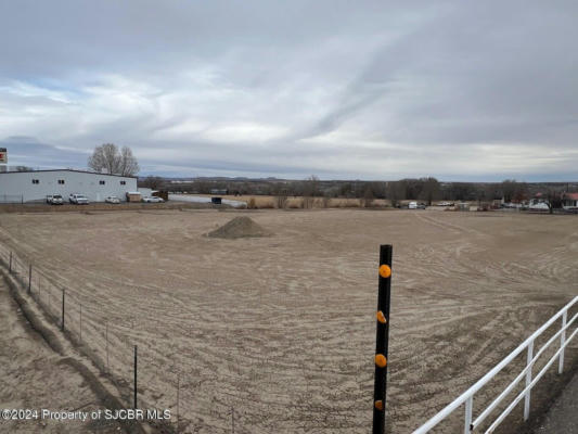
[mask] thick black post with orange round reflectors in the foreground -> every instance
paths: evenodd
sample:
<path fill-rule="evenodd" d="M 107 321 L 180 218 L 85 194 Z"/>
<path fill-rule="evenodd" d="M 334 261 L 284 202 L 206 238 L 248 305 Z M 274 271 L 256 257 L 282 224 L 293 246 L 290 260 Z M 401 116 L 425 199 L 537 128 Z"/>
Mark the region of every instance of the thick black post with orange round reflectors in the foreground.
<path fill-rule="evenodd" d="M 391 245 L 380 246 L 380 286 L 375 343 L 375 384 L 373 388 L 373 434 L 385 433 L 387 358 L 389 346 L 389 306 L 391 298 Z"/>

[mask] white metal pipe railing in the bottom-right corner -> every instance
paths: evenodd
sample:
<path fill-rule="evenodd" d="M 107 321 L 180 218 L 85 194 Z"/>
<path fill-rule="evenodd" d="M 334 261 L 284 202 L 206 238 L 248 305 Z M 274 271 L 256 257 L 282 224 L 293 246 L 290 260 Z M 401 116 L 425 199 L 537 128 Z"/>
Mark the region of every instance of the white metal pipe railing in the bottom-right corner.
<path fill-rule="evenodd" d="M 474 430 L 481 426 L 481 423 L 490 416 L 490 413 L 496 410 L 496 408 L 505 399 L 508 395 L 514 390 L 514 387 L 522 381 L 526 379 L 525 387 L 519 392 L 516 397 L 510 403 L 510 405 L 503 410 L 500 416 L 493 420 L 485 433 L 492 433 L 499 424 L 505 419 L 508 414 L 512 412 L 515 406 L 524 399 L 524 420 L 529 418 L 530 413 L 530 396 L 532 387 L 538 383 L 538 381 L 544 375 L 548 369 L 558 360 L 558 374 L 564 370 L 564 349 L 574 339 L 578 332 L 578 328 L 575 328 L 574 332 L 566 339 L 566 331 L 574 324 L 578 318 L 578 314 L 575 314 L 574 317 L 567 321 L 569 309 L 578 303 L 578 296 L 564 306 L 557 314 L 550 318 L 541 328 L 534 332 L 526 341 L 524 341 L 517 348 L 515 348 L 510 355 L 508 355 L 502 361 L 500 361 L 493 369 L 491 369 L 486 375 L 479 379 L 472 387 L 465 391 L 462 395 L 455 398 L 452 403 L 446 406 L 436 416 L 425 422 L 422 426 L 413 432 L 413 434 L 425 434 L 429 432 L 434 426 L 449 417 L 457 408 L 462 405 L 464 406 L 464 433 L 472 433 Z M 543 334 L 543 332 L 549 329 L 556 320 L 561 319 L 560 330 L 554 333 L 540 348 L 536 355 L 534 355 L 534 343 L 535 341 Z M 532 379 L 532 368 L 536 365 L 538 358 L 550 347 L 552 343 L 560 339 L 560 348 L 554 353 L 554 355 L 548 360 L 545 366 L 540 370 L 540 372 Z M 480 414 L 473 419 L 473 404 L 474 395 L 484 387 L 490 380 L 492 380 L 504 367 L 510 365 L 512 360 L 516 358 L 522 352 L 526 350 L 526 367 L 522 372 L 505 387 L 505 390 L 498 395 L 498 397 L 487 406 Z"/>

